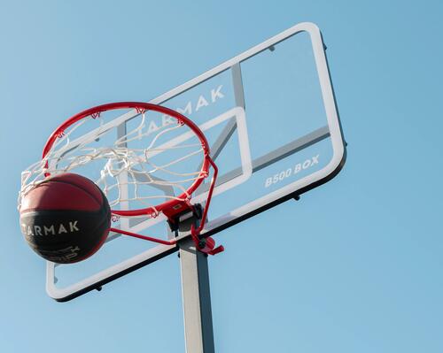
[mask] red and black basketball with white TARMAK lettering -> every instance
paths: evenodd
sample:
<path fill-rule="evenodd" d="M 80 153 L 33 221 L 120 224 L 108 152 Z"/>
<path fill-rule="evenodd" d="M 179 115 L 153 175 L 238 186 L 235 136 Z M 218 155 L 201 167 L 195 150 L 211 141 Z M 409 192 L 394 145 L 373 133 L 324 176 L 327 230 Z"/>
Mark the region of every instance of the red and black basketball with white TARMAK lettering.
<path fill-rule="evenodd" d="M 74 173 L 44 180 L 22 198 L 20 228 L 29 246 L 58 263 L 82 261 L 103 245 L 111 226 L 109 203 L 97 185 Z"/>

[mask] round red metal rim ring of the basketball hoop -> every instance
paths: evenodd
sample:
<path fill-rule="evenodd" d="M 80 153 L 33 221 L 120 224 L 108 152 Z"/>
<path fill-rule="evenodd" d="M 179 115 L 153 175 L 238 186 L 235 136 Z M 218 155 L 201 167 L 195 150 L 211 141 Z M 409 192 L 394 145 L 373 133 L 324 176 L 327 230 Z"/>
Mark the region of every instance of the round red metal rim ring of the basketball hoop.
<path fill-rule="evenodd" d="M 116 109 L 125 109 L 125 108 L 135 109 L 138 113 L 144 113 L 144 111 L 157 111 L 163 114 L 167 114 L 172 118 L 175 118 L 177 120 L 177 123 L 179 124 L 183 124 L 186 125 L 187 127 L 190 127 L 190 130 L 197 135 L 198 140 L 201 143 L 204 153 L 204 161 L 201 170 L 198 173 L 198 178 L 190 185 L 190 187 L 185 192 L 183 192 L 183 194 L 177 196 L 177 198 L 168 200 L 164 203 L 160 203 L 157 206 L 151 206 L 136 210 L 111 210 L 112 213 L 122 217 L 134 217 L 134 216 L 146 216 L 146 215 L 155 217 L 161 211 L 170 210 L 177 205 L 186 204 L 189 201 L 189 196 L 192 195 L 192 193 L 201 185 L 203 180 L 209 175 L 209 166 L 210 165 L 214 166 L 214 161 L 209 156 L 210 154 L 209 144 L 206 140 L 205 134 L 203 134 L 200 128 L 192 120 L 185 117 L 182 113 L 159 104 L 150 104 L 143 102 L 117 102 L 110 104 L 101 104 L 89 108 L 85 111 L 81 111 L 72 116 L 71 118 L 66 119 L 66 121 L 63 124 L 61 124 L 56 130 L 54 130 L 54 132 L 51 134 L 51 136 L 44 145 L 42 158 L 44 159 L 44 157 L 46 157 L 46 155 L 50 152 L 52 146 L 54 145 L 54 142 L 56 142 L 57 139 L 63 135 L 66 128 L 71 127 L 74 123 L 82 119 L 86 119 L 88 117 L 95 119 L 104 111 L 113 111 Z M 46 161 L 45 167 L 48 167 L 48 161 Z M 47 175 L 49 176 L 51 175 L 51 173 L 48 173 Z"/>

